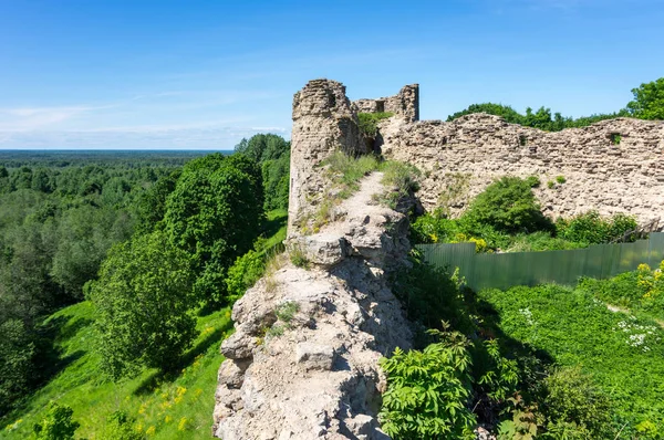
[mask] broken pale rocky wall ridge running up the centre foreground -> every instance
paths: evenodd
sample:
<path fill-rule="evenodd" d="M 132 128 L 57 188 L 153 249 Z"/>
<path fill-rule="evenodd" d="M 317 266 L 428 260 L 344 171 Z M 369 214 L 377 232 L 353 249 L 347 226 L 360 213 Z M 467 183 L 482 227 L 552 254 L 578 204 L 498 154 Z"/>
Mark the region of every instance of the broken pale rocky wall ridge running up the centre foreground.
<path fill-rule="evenodd" d="M 377 423 L 385 377 L 378 359 L 411 346 L 412 331 L 387 285 L 407 264 L 407 218 L 376 205 L 381 174 L 338 207 L 343 220 L 293 235 L 309 270 L 282 255 L 232 310 L 236 333 L 216 392 L 216 437 L 384 439 Z M 291 313 L 286 313 L 289 310 Z"/>

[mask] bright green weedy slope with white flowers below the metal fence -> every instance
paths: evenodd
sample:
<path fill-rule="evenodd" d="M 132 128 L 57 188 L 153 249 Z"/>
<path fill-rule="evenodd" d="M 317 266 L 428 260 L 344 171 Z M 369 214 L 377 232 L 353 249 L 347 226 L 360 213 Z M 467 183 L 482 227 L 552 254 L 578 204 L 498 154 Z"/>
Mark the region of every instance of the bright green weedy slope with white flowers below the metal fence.
<path fill-rule="evenodd" d="M 654 321 L 611 312 L 583 290 L 554 285 L 487 290 L 479 296 L 495 310 L 506 336 L 591 374 L 615 402 L 615 425 L 626 422 L 624 436 L 647 421 L 664 428 L 664 331 Z M 637 334 L 646 334 L 644 344 L 632 346 L 630 336 Z"/>

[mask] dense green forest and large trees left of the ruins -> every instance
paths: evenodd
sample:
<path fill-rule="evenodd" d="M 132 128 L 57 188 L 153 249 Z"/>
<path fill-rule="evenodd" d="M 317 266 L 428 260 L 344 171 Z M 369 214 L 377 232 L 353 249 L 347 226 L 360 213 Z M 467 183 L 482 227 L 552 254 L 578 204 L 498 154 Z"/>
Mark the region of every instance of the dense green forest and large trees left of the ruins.
<path fill-rule="evenodd" d="M 115 378 L 167 369 L 190 345 L 193 313 L 227 302 L 263 209 L 288 202 L 290 144 L 257 135 L 237 149 L 183 167 L 0 167 L 0 416 L 61 362 L 42 322 L 62 306 L 94 302 Z"/>

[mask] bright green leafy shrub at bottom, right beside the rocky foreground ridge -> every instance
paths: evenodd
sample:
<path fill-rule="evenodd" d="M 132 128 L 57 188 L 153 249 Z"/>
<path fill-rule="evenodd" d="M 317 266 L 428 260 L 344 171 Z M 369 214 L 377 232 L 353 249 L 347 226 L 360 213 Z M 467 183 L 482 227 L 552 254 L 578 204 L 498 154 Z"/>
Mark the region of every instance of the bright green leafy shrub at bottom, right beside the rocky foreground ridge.
<path fill-rule="evenodd" d="M 423 352 L 400 348 L 381 359 L 387 390 L 378 418 L 394 439 L 473 439 L 476 419 L 467 404 L 471 396 L 468 339 L 459 332 L 434 331 L 438 343 Z"/>

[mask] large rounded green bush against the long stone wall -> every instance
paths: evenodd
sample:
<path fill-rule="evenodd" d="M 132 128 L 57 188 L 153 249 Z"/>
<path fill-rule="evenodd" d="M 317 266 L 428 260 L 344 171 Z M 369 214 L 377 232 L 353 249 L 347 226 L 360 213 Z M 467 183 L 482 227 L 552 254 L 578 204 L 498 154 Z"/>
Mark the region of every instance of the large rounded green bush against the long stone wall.
<path fill-rule="evenodd" d="M 470 203 L 465 218 L 497 231 L 519 232 L 550 229 L 530 185 L 518 177 L 502 177 L 489 185 Z"/>

